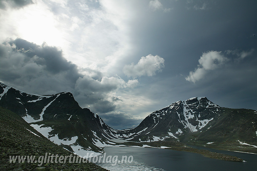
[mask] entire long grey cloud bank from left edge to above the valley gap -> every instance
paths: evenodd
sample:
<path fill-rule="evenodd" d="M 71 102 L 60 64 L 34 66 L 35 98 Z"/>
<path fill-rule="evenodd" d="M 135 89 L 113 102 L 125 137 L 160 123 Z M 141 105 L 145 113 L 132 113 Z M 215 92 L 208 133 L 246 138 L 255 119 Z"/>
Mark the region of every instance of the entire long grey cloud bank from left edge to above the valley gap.
<path fill-rule="evenodd" d="M 16 39 L 0 45 L 2 82 L 35 94 L 70 91 L 82 107 L 93 112 L 114 111 L 122 102 L 115 92 L 139 84 L 137 79 L 125 82 L 119 76 L 106 77 L 99 71 L 85 71 L 90 74 L 80 73 L 75 64 L 63 57 L 61 50 L 47 44 Z"/>

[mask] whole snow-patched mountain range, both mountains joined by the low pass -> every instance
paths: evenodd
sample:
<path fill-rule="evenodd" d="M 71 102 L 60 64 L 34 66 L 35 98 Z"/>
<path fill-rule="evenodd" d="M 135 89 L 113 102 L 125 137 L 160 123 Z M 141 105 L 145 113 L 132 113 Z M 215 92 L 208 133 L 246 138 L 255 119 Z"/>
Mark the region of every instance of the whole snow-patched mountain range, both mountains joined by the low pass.
<path fill-rule="evenodd" d="M 257 111 L 220 107 L 206 97 L 172 103 L 125 130 L 113 129 L 89 109 L 81 108 L 70 92 L 35 95 L 0 82 L 0 106 L 80 156 L 88 151 L 98 155 L 103 147 L 121 145 L 113 140 L 117 138 L 131 143 L 177 141 L 257 153 Z"/>

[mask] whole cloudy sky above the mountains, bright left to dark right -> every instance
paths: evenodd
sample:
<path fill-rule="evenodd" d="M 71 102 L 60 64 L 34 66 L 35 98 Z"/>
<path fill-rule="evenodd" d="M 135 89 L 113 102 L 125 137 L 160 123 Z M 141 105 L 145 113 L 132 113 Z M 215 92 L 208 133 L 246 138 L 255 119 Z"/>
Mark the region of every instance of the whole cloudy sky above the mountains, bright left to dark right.
<path fill-rule="evenodd" d="M 257 110 L 257 1 L 0 0 L 0 81 L 115 129 L 179 100 Z"/>

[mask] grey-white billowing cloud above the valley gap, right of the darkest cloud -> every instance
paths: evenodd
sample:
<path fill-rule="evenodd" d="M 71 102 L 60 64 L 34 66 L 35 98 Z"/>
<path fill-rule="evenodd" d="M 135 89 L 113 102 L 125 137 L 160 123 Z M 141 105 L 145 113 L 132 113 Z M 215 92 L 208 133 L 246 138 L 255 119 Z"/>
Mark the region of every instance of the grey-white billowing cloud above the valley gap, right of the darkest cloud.
<path fill-rule="evenodd" d="M 76 98 L 79 102 L 87 104 L 85 107 L 99 113 L 114 111 L 117 101 L 122 102 L 121 97 L 112 92 L 118 89 L 133 88 L 138 85 L 138 80 L 125 82 L 121 78 L 102 77 L 100 81 L 90 76 L 79 77 L 76 81 Z"/>

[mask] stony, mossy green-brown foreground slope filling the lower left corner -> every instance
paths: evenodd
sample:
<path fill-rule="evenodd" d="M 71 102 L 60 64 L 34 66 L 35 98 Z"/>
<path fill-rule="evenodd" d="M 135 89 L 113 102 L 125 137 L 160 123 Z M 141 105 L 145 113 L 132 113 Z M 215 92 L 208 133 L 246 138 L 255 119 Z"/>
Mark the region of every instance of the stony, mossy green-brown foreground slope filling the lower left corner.
<path fill-rule="evenodd" d="M 30 131 L 38 136 L 34 135 Z M 34 130 L 15 113 L 0 107 L 0 170 L 106 170 L 93 163 L 10 163 L 9 156 L 33 155 L 37 159 L 45 153 L 69 156 L 70 153 Z"/>

